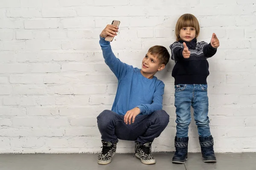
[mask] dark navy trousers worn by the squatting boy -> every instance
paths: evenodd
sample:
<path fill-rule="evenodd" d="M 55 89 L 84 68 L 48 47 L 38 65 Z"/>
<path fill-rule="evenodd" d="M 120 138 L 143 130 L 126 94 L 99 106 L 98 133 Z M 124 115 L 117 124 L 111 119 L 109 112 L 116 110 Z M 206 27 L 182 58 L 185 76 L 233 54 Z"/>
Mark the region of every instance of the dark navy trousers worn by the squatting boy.
<path fill-rule="evenodd" d="M 102 140 L 115 142 L 121 139 L 140 144 L 153 142 L 169 123 L 169 115 L 163 110 L 154 111 L 150 115 L 138 115 L 131 125 L 125 124 L 124 116 L 109 110 L 99 114 L 97 123 Z"/>

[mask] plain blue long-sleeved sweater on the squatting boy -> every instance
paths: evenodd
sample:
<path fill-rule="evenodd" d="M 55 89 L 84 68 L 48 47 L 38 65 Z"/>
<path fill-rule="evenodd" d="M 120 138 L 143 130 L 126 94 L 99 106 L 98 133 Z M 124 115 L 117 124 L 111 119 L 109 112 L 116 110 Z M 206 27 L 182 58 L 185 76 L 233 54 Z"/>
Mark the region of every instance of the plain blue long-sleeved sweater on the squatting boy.
<path fill-rule="evenodd" d="M 164 83 L 153 77 L 148 79 L 140 73 L 139 68 L 121 62 L 113 54 L 110 42 L 100 37 L 105 63 L 118 79 L 116 97 L 111 111 L 120 115 L 135 107 L 140 108 L 140 115 L 162 110 Z"/>

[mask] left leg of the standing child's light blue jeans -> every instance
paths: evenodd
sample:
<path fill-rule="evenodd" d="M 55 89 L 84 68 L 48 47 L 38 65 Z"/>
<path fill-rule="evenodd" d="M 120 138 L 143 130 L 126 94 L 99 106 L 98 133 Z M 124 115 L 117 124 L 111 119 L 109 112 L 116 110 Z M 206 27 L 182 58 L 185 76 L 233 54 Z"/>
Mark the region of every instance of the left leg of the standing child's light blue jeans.
<path fill-rule="evenodd" d="M 176 136 L 188 137 L 194 85 L 175 85 Z"/>

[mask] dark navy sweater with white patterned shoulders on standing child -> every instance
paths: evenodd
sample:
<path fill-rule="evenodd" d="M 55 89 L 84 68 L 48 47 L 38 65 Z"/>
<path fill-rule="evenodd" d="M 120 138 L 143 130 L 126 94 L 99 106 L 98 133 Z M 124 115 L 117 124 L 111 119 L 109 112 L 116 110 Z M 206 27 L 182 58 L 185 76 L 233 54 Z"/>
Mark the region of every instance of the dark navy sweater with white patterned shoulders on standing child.
<path fill-rule="evenodd" d="M 190 57 L 185 59 L 182 55 L 186 43 L 190 51 Z M 175 78 L 175 85 L 178 84 L 207 84 L 209 76 L 209 63 L 207 58 L 212 57 L 217 48 L 207 42 L 197 42 L 194 38 L 191 42 L 180 40 L 170 45 L 171 59 L 175 60 L 172 70 L 172 77 Z"/>

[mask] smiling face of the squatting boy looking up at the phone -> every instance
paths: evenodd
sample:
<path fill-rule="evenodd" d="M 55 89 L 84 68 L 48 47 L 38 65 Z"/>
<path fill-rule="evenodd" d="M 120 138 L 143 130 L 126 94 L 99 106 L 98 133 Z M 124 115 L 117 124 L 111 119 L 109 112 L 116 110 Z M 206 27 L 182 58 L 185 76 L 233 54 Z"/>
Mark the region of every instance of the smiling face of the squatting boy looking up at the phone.
<path fill-rule="evenodd" d="M 144 73 L 155 74 L 162 64 L 157 56 L 147 53 L 142 60 L 141 70 Z"/>

